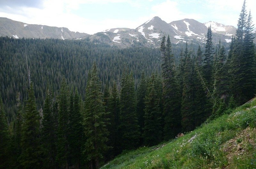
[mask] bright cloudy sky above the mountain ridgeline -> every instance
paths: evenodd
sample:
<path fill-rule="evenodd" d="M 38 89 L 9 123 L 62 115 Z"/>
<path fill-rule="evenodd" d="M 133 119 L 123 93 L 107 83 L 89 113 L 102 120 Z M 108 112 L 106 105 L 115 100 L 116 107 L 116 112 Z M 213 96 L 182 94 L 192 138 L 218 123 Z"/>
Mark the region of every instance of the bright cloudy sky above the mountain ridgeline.
<path fill-rule="evenodd" d="M 237 25 L 244 0 L 0 0 L 0 17 L 94 34 L 133 28 L 158 16 L 167 23 L 184 18 Z M 246 0 L 256 24 L 256 0 Z"/>

